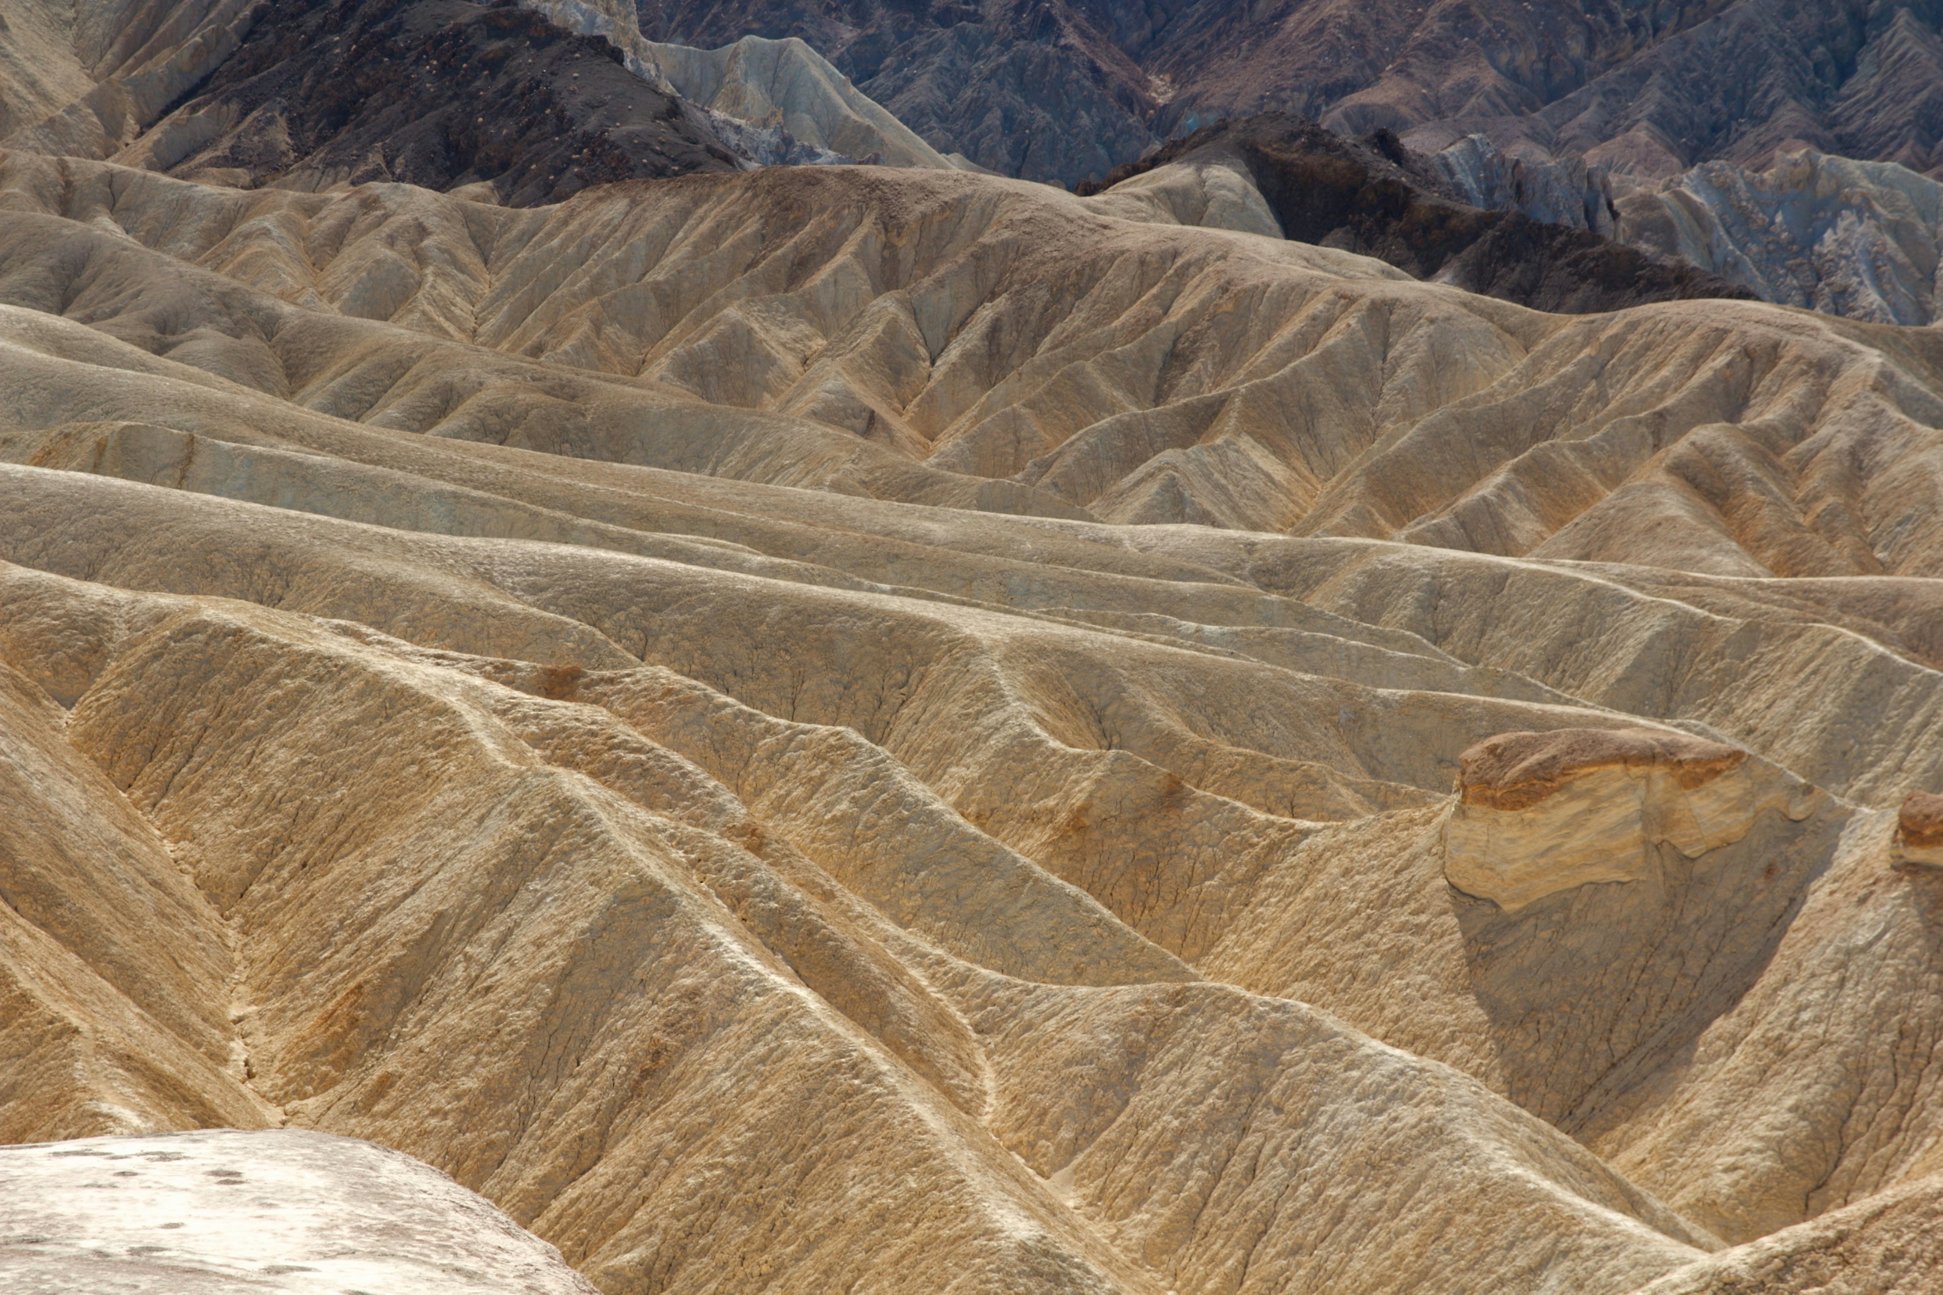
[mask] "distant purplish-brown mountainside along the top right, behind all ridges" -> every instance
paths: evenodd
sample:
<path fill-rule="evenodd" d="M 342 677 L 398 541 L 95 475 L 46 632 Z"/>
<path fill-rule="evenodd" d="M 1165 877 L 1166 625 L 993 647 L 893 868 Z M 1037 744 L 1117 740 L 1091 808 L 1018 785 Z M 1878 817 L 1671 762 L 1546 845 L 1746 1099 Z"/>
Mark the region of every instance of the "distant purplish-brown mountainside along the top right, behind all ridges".
<path fill-rule="evenodd" d="M 1286 111 L 1430 151 L 1483 130 L 1646 181 L 1811 146 L 1933 173 L 1935 0 L 639 0 L 653 39 L 802 37 L 940 151 L 1100 181 Z"/>

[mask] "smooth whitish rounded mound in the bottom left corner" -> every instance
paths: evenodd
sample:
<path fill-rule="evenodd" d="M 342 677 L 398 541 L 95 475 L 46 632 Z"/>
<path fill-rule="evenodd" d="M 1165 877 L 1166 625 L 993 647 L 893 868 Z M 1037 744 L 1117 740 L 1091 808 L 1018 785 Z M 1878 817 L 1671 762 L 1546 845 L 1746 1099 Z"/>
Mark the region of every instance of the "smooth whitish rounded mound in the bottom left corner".
<path fill-rule="evenodd" d="M 443 1173 L 297 1128 L 0 1147 L 14 1295 L 595 1295 Z"/>

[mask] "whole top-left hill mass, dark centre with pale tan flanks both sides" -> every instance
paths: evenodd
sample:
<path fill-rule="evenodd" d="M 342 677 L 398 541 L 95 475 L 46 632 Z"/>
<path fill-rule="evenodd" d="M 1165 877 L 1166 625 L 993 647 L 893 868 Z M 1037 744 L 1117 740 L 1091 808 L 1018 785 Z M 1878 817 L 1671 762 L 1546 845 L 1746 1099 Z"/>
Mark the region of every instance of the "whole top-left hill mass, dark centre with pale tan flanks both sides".
<path fill-rule="evenodd" d="M 956 165 L 801 41 L 651 45 L 622 0 L 19 8 L 10 49 L 49 74 L 0 66 L 0 140 L 208 183 L 525 206 L 628 177 Z"/>

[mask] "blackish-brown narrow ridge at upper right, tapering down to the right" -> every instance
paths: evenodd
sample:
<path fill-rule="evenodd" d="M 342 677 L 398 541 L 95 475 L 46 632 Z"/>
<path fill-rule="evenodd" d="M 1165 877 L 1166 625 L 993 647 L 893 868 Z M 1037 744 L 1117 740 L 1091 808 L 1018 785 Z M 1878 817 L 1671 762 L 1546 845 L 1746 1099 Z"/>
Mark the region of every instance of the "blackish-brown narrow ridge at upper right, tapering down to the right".
<path fill-rule="evenodd" d="M 1166 167 L 1224 167 L 1245 175 L 1282 237 L 1378 256 L 1415 278 L 1517 301 L 1539 311 L 1599 313 L 1648 301 L 1753 297 L 1683 262 L 1663 264 L 1585 227 L 1461 200 L 1475 175 L 1405 149 L 1395 136 L 1343 140 L 1315 122 L 1263 113 L 1203 126 L 1139 163 L 1115 167 L 1080 194 L 1121 194 Z M 1451 179 L 1469 175 L 1467 181 Z M 1537 198 L 1533 206 L 1543 210 Z M 1216 204 L 1209 223 L 1265 233 L 1257 204 Z M 1236 216 L 1224 216 L 1236 212 Z"/>

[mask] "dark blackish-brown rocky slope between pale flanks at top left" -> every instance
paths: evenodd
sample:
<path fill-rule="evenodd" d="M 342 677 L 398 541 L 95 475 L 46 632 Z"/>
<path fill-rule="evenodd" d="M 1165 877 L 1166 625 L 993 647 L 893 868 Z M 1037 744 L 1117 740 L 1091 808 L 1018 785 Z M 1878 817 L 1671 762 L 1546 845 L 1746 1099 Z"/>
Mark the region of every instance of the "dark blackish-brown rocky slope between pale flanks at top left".
<path fill-rule="evenodd" d="M 736 167 L 705 118 L 606 41 L 464 0 L 272 6 L 124 161 L 307 190 L 490 183 L 519 206 Z"/>

